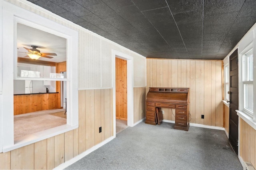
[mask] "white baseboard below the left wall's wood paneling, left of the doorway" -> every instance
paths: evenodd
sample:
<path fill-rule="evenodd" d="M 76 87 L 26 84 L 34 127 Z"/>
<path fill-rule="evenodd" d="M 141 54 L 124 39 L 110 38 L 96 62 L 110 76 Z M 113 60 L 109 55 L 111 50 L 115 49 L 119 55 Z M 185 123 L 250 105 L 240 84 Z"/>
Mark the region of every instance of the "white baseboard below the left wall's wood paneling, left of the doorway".
<path fill-rule="evenodd" d="M 66 168 L 66 167 L 70 166 L 71 164 L 75 163 L 76 161 L 82 159 L 84 156 L 88 155 L 89 153 L 93 152 L 94 150 L 96 150 L 96 149 L 102 147 L 103 145 L 105 145 L 106 143 L 110 142 L 114 138 L 115 137 L 113 136 L 113 137 L 106 139 L 105 141 L 103 141 L 103 142 L 95 145 L 94 147 L 82 152 L 81 154 L 75 156 L 74 158 L 64 162 L 63 164 L 60 164 L 59 166 L 55 167 L 54 170 L 60 170 L 60 169 L 63 170 L 64 168 Z"/>

